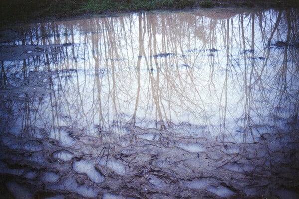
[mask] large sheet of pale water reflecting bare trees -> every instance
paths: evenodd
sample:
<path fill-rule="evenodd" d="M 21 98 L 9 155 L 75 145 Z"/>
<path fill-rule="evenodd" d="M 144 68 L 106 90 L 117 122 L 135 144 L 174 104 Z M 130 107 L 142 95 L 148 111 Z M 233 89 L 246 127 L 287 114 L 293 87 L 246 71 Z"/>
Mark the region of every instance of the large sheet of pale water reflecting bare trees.
<path fill-rule="evenodd" d="M 15 44 L 52 47 L 1 61 L 1 126 L 29 135 L 62 126 L 98 134 L 128 124 L 192 135 L 195 126 L 223 142 L 291 130 L 299 112 L 298 27 L 296 9 L 22 27 Z M 26 81 L 46 92 L 8 94 Z"/>

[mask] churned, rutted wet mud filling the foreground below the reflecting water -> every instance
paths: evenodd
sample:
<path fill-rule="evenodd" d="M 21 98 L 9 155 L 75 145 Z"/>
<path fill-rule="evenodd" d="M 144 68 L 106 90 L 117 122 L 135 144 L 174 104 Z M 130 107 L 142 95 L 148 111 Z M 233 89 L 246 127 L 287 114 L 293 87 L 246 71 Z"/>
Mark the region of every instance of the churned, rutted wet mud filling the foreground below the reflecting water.
<path fill-rule="evenodd" d="M 2 185 L 8 189 L 2 193 L 20 189 L 28 198 L 296 196 L 298 142 L 288 138 L 298 140 L 298 132 L 237 144 L 124 128 L 128 134 L 121 143 L 111 142 L 111 133 L 90 137 L 74 131 L 70 136 L 62 130 L 68 146 L 49 137 L 1 135 Z"/>

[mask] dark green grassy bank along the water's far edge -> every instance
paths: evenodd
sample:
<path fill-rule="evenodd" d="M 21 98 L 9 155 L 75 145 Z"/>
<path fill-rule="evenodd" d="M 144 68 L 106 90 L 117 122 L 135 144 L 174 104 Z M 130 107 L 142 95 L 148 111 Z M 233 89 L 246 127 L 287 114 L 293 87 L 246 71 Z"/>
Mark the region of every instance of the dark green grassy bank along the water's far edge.
<path fill-rule="evenodd" d="M 299 0 L 0 0 L 0 25 L 46 17 L 214 6 L 299 7 Z"/>

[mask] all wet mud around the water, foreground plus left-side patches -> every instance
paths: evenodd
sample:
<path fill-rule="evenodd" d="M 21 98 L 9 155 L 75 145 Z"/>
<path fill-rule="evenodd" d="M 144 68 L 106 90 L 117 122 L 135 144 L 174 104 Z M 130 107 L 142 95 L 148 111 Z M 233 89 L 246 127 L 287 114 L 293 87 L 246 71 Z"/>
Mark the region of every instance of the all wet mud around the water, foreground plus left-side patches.
<path fill-rule="evenodd" d="M 2 70 L 3 60 L 57 54 L 72 45 L 12 45 L 22 38 L 9 30 L 1 32 L 0 39 Z M 189 123 L 179 127 L 200 133 L 187 136 L 162 124 L 140 128 L 132 123 L 116 125 L 111 131 L 95 125 L 98 134 L 94 136 L 83 128 L 63 125 L 51 131 L 29 125 L 35 134 L 8 129 L 11 107 L 51 95 L 48 85 L 57 73 L 30 72 L 16 85 L 2 85 L 0 198 L 298 198 L 298 117 L 285 123 L 289 131 L 252 126 L 268 130 L 247 143 L 221 141 L 205 126 Z M 122 133 L 116 133 L 119 129 Z"/>

